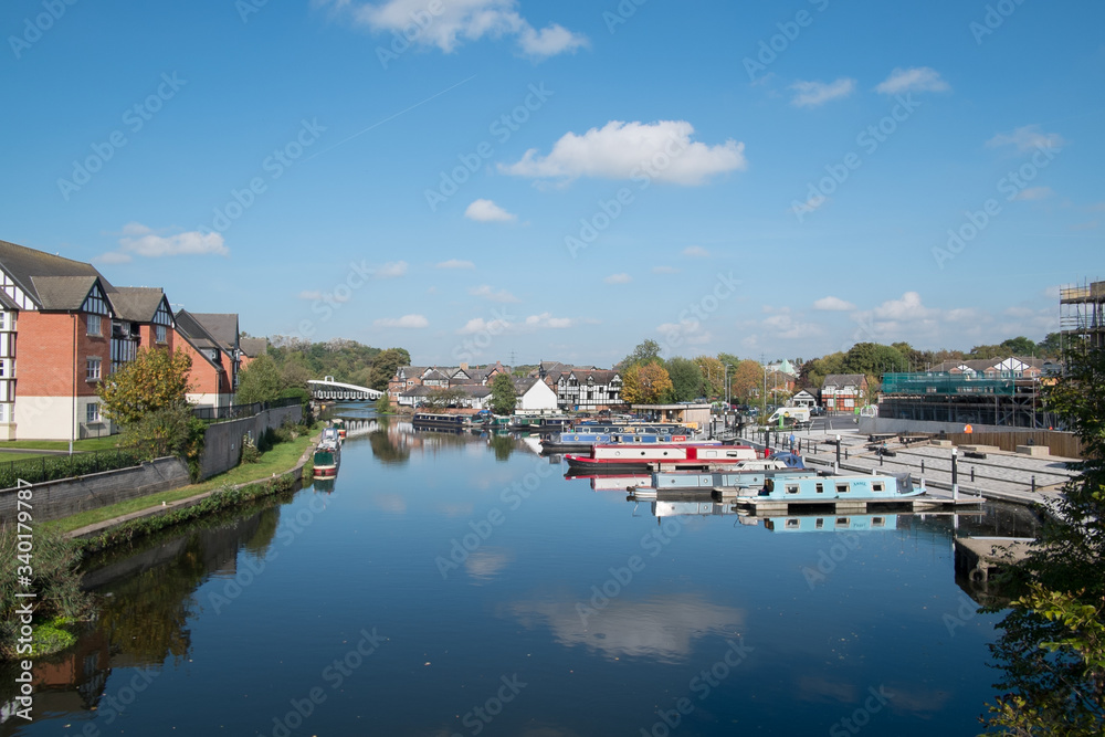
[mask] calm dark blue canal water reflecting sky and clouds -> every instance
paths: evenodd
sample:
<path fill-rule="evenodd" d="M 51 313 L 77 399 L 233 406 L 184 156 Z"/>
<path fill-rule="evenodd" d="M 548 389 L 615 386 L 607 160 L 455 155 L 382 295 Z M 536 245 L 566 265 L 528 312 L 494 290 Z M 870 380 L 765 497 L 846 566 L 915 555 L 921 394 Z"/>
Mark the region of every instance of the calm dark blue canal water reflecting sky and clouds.
<path fill-rule="evenodd" d="M 509 439 L 355 433 L 329 487 L 101 561 L 103 617 L 4 734 L 979 731 L 998 618 L 950 519 L 657 518 L 562 473 Z"/>

